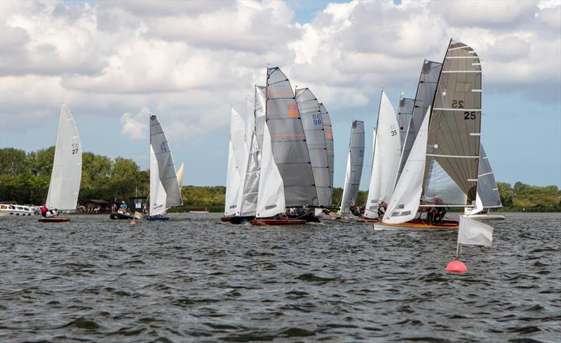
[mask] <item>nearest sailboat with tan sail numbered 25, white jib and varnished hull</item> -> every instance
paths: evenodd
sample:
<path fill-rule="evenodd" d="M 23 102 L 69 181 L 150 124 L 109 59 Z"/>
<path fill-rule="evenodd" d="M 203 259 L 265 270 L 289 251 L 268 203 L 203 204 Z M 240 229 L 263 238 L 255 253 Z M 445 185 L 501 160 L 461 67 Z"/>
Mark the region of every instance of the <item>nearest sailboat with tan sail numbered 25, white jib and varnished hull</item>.
<path fill-rule="evenodd" d="M 422 219 L 445 208 L 471 208 L 478 189 L 481 63 L 475 51 L 450 40 L 433 106 L 407 156 L 391 200 L 374 229 L 457 229 L 453 220 Z M 414 115 L 412 120 L 414 119 Z M 406 139 L 407 140 L 407 139 Z"/>

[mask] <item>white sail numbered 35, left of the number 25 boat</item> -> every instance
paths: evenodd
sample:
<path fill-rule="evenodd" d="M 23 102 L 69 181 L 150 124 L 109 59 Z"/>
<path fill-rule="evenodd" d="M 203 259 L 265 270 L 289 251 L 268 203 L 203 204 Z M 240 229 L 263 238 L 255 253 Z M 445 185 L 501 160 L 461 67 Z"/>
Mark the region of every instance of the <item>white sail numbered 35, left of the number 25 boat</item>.
<path fill-rule="evenodd" d="M 384 90 L 380 95 L 373 147 L 372 175 L 364 213 L 366 221 L 377 220 L 380 204 L 389 201 L 396 184 L 402 154 L 398 118 Z"/>

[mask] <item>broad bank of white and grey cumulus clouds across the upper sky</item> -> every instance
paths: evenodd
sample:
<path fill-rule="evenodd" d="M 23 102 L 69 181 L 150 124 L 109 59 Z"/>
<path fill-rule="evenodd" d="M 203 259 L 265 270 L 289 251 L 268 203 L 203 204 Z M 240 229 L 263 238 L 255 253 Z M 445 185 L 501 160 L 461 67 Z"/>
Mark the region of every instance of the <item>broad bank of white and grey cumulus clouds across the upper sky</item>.
<path fill-rule="evenodd" d="M 446 4 L 350 1 L 293 23 L 283 1 L 0 1 L 0 112 L 34 123 L 65 101 L 138 139 L 132 113 L 150 108 L 169 135 L 199 139 L 227 131 L 229 105 L 245 108 L 267 63 L 328 109 L 375 106 L 384 86 L 414 90 L 450 37 L 482 57 L 485 85 L 557 99 L 559 1 Z"/>

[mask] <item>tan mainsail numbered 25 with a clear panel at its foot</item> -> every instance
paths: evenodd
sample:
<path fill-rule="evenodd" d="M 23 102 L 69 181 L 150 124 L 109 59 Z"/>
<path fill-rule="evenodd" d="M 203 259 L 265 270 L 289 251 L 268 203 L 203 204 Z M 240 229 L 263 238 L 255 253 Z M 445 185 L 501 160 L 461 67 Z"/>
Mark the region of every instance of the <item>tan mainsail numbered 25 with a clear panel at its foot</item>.
<path fill-rule="evenodd" d="M 450 41 L 428 126 L 424 203 L 471 206 L 477 194 L 481 62 L 464 43 Z"/>

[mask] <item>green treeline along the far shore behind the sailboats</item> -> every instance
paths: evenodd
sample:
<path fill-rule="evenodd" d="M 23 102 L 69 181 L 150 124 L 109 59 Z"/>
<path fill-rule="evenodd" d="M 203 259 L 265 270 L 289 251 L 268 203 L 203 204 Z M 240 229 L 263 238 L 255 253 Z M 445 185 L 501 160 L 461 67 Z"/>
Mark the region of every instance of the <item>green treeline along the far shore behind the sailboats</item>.
<path fill-rule="evenodd" d="M 0 149 L 0 201 L 42 204 L 47 196 L 50 171 L 53 168 L 55 147 L 25 152 L 20 149 Z M 557 186 L 538 187 L 522 182 L 513 186 L 497 182 L 503 210 L 553 210 L 561 211 L 561 191 Z M 333 203 L 341 201 L 342 189 L 333 190 Z M 128 201 L 135 194 L 149 194 L 149 170 L 140 170 L 132 159 L 82 154 L 82 181 L 79 203 L 90 199 Z M 184 206 L 176 210 L 209 208 L 221 212 L 224 209 L 226 187 L 184 186 Z M 358 193 L 360 205 L 366 203 L 367 191 Z"/>

